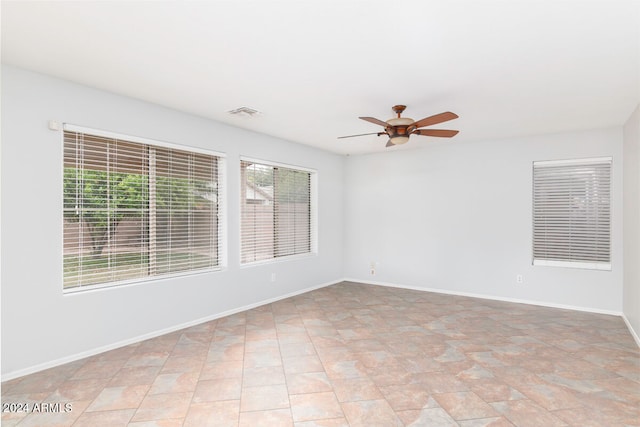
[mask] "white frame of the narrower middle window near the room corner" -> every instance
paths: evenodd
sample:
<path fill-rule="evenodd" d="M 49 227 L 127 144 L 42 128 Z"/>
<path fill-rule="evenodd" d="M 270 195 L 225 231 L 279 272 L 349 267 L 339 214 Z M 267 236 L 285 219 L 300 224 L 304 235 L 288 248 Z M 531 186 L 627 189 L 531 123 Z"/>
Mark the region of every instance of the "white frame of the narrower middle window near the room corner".
<path fill-rule="evenodd" d="M 277 168 L 279 167 L 279 168 L 292 169 L 300 172 L 306 172 L 309 174 L 309 252 L 293 254 L 293 255 L 284 255 L 284 256 L 278 256 L 278 257 L 274 256 L 267 259 L 242 262 L 242 213 L 243 213 L 243 204 L 244 204 L 244 200 L 243 200 L 244 191 L 242 190 L 242 186 L 244 185 L 244 182 L 242 180 L 242 163 L 243 162 L 257 163 L 257 164 L 277 167 Z M 239 197 L 238 197 L 238 212 L 240 214 L 239 221 L 238 221 L 238 236 L 239 236 L 238 263 L 240 264 L 240 268 L 286 262 L 286 261 L 292 261 L 296 259 L 316 256 L 318 254 L 318 171 L 316 169 L 312 169 L 309 167 L 292 165 L 289 163 L 275 162 L 272 160 L 258 159 L 255 157 L 242 156 L 242 155 L 240 156 L 238 165 L 239 165 L 238 181 L 240 183 L 240 191 L 239 191 Z"/>

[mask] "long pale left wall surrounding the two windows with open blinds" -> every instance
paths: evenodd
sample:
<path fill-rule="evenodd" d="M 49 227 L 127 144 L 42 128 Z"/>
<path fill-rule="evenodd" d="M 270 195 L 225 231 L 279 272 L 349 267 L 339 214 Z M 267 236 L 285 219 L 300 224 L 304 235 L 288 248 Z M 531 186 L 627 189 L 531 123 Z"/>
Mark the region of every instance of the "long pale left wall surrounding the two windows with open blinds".
<path fill-rule="evenodd" d="M 3 380 L 342 277 L 341 156 L 12 67 L 2 69 L 1 118 Z M 51 119 L 226 153 L 228 268 L 63 295 L 62 145 Z M 240 156 L 317 170 L 317 256 L 239 267 Z"/>

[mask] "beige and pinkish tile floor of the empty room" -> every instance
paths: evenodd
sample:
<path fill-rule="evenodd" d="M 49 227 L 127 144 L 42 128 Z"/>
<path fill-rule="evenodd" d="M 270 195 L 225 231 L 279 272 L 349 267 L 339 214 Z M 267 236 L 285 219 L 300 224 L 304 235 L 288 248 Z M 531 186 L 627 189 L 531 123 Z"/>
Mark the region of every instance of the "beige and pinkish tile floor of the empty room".
<path fill-rule="evenodd" d="M 71 404 L 2 414 L 21 427 L 640 426 L 640 351 L 615 316 L 344 282 L 8 381 L 2 402 Z"/>

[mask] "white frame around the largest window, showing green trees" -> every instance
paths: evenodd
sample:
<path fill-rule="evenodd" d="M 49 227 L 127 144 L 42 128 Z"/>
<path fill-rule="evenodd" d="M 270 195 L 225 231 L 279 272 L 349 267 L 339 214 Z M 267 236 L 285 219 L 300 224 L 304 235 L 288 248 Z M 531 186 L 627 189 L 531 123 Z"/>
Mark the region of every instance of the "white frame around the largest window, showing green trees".
<path fill-rule="evenodd" d="M 86 135 L 95 136 L 99 138 L 120 140 L 123 142 L 131 142 L 134 144 L 141 144 L 145 146 L 154 146 L 161 149 L 178 150 L 182 152 L 216 157 L 218 187 L 217 187 L 217 201 L 215 204 L 217 208 L 217 212 L 216 212 L 217 227 L 215 231 L 217 233 L 217 245 L 215 245 L 215 248 L 217 250 L 217 254 L 216 254 L 217 265 L 208 267 L 208 268 L 188 269 L 188 270 L 172 271 L 168 273 L 157 273 L 149 276 L 134 277 L 131 279 L 123 279 L 123 280 L 113 280 L 109 282 L 100 282 L 95 284 L 84 284 L 84 285 L 72 286 L 68 288 L 64 287 L 64 277 L 62 277 L 61 283 L 62 283 L 63 294 L 73 294 L 78 292 L 87 292 L 87 291 L 100 290 L 100 289 L 119 288 L 123 286 L 137 285 L 137 284 L 154 282 L 154 281 L 159 281 L 159 280 L 164 280 L 164 279 L 174 278 L 174 277 L 185 277 L 185 276 L 192 276 L 192 275 L 199 275 L 199 274 L 208 274 L 208 273 L 218 272 L 226 269 L 226 266 L 227 266 L 226 162 L 227 160 L 226 160 L 225 153 L 221 153 L 214 150 L 208 150 L 204 148 L 199 148 L 199 147 L 161 141 L 157 139 L 144 138 L 139 136 L 106 131 L 102 129 L 95 129 L 95 128 L 89 128 L 85 126 L 78 126 L 70 123 L 64 123 L 62 126 L 62 131 L 60 132 L 61 142 L 62 142 L 60 144 L 61 150 L 62 150 L 62 174 L 61 174 L 62 179 L 60 180 L 61 183 L 63 182 L 63 179 L 64 179 L 63 175 L 65 170 L 65 166 L 64 166 L 65 132 L 75 132 L 75 133 L 86 134 Z M 147 162 L 150 162 L 149 158 L 147 158 L 146 160 Z M 62 198 L 64 198 L 64 192 L 61 191 L 60 194 Z M 62 216 L 61 223 L 64 225 L 64 210 L 65 210 L 64 202 L 61 203 L 61 205 L 62 205 L 60 209 L 60 214 Z M 64 231 L 63 231 L 61 241 L 62 241 L 62 249 L 64 251 L 64 244 L 65 244 Z M 61 259 L 61 261 L 62 261 L 61 265 L 64 266 L 64 260 Z"/>

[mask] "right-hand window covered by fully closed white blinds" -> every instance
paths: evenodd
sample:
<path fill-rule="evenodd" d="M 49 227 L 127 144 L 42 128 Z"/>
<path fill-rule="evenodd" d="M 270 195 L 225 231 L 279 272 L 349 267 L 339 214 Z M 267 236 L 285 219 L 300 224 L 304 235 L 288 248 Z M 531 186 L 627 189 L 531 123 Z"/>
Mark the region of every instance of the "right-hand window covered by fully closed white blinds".
<path fill-rule="evenodd" d="M 611 158 L 533 163 L 533 263 L 611 269 Z"/>

